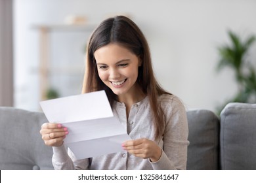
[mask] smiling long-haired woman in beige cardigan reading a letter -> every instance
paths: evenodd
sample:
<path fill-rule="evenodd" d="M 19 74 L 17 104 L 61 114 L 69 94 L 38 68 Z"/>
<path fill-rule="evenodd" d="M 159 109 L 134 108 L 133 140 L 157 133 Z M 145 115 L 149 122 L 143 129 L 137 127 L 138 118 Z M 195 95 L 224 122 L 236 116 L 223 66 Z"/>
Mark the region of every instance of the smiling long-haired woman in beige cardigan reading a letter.
<path fill-rule="evenodd" d="M 125 16 L 104 20 L 89 40 L 83 93 L 98 90 L 133 140 L 123 142 L 123 152 L 76 159 L 63 144 L 68 129 L 45 123 L 40 132 L 53 146 L 55 169 L 186 169 L 186 111 L 156 81 L 148 43 Z"/>

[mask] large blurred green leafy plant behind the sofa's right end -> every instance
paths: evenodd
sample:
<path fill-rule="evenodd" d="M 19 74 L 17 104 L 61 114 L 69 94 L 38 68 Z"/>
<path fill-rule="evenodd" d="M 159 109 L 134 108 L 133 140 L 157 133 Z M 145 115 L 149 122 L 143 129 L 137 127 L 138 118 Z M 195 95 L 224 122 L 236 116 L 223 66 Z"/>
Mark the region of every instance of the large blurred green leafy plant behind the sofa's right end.
<path fill-rule="evenodd" d="M 224 67 L 233 69 L 238 92 L 217 108 L 217 114 L 220 114 L 221 110 L 230 102 L 256 103 L 256 69 L 247 61 L 248 50 L 256 38 L 254 35 L 250 35 L 245 41 L 242 41 L 232 31 L 228 31 L 228 37 L 231 44 L 225 44 L 218 48 L 220 59 L 217 70 L 220 71 Z"/>

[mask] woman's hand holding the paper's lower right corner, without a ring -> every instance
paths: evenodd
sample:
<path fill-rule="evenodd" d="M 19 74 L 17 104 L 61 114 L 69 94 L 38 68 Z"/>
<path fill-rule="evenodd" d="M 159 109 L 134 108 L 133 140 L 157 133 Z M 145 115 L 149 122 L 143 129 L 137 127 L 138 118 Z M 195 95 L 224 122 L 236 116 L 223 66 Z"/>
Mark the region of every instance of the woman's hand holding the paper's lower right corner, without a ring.
<path fill-rule="evenodd" d="M 122 144 L 123 149 L 139 158 L 150 158 L 150 161 L 158 161 L 161 157 L 161 148 L 148 139 L 136 139 Z"/>

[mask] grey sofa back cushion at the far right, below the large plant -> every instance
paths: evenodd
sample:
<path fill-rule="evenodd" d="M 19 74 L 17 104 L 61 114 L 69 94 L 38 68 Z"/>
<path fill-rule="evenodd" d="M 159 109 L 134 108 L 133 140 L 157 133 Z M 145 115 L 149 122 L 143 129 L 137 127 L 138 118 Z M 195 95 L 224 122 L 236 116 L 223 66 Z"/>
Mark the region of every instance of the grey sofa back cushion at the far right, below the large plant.
<path fill-rule="evenodd" d="M 256 104 L 226 105 L 220 138 L 221 169 L 256 169 Z"/>

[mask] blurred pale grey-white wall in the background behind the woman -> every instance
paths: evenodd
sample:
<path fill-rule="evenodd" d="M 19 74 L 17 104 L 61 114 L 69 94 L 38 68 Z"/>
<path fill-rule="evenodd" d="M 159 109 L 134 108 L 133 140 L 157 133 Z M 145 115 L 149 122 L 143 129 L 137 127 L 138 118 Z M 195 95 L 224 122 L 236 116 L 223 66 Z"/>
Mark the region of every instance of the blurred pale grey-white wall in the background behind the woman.
<path fill-rule="evenodd" d="M 256 34 L 255 9 L 254 0 L 16 0 L 15 105 L 37 110 L 40 100 L 36 75 L 39 35 L 33 24 L 62 24 L 70 14 L 85 15 L 89 24 L 99 24 L 110 14 L 125 13 L 146 35 L 154 71 L 163 88 L 181 97 L 187 108 L 215 110 L 237 90 L 232 71 L 216 72 L 217 46 L 228 42 L 228 29 L 242 37 Z M 81 35 L 82 42 L 88 36 Z M 83 67 L 83 54 L 74 54 L 74 50 L 81 50 L 78 39 L 65 41 L 57 34 L 51 39 L 51 59 L 73 57 Z M 63 51 L 65 42 L 75 45 L 74 50 Z M 253 61 L 255 48 L 250 52 Z M 62 65 L 61 61 L 57 64 Z M 80 86 L 75 90 L 79 94 Z"/>

